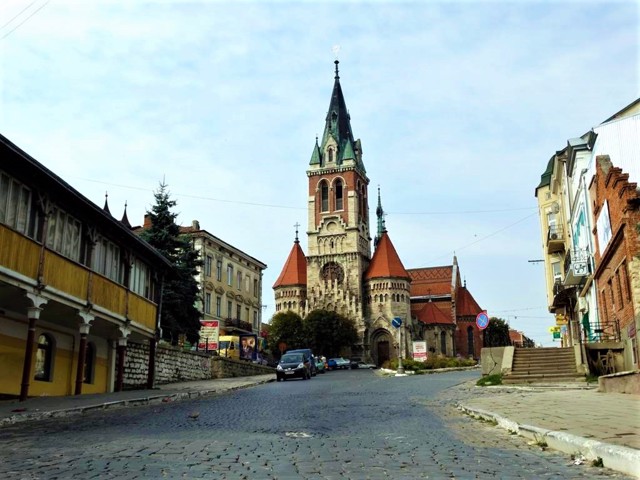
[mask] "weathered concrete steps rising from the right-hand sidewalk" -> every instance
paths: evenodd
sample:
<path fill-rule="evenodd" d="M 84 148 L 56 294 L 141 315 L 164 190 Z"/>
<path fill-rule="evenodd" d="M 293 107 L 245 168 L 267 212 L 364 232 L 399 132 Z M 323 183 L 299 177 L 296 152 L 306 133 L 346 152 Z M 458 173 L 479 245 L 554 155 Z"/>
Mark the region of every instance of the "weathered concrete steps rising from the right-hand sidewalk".
<path fill-rule="evenodd" d="M 573 348 L 516 348 L 504 384 L 584 382 Z"/>

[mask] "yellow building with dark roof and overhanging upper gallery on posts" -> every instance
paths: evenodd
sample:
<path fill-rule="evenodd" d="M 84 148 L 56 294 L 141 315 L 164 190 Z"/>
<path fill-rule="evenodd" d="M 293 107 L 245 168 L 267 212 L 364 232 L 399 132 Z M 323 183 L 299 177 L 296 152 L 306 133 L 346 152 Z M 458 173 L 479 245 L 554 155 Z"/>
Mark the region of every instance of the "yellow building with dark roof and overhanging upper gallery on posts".
<path fill-rule="evenodd" d="M 2 135 L 0 158 L 0 397 L 121 389 L 170 264 Z"/>

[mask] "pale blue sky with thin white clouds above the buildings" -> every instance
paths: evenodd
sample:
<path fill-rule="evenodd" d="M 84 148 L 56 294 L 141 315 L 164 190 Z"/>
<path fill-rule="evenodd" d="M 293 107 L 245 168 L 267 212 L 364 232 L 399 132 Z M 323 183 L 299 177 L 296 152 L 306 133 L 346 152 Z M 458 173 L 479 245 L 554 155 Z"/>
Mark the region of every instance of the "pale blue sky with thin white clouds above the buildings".
<path fill-rule="evenodd" d="M 178 222 L 266 263 L 307 222 L 340 61 L 375 224 L 405 268 L 451 265 L 489 316 L 548 328 L 535 188 L 569 138 L 640 96 L 637 1 L 102 1 L 0 4 L 0 133 L 140 225 Z M 0 168 L 3 160 L 0 159 Z M 375 232 L 375 227 L 372 227 Z M 301 246 L 308 252 L 302 227 Z"/>

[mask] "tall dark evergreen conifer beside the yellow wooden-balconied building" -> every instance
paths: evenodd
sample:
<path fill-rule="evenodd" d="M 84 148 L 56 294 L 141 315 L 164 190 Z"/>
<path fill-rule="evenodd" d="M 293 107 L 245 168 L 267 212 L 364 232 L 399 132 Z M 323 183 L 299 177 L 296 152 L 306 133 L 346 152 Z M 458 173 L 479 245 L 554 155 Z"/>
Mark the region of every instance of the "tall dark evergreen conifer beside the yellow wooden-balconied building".
<path fill-rule="evenodd" d="M 200 312 L 196 308 L 199 291 L 195 275 L 202 262 L 189 238 L 180 234 L 176 223 L 178 214 L 171 211 L 177 202 L 169 198 L 164 182 L 160 183 L 154 197 L 156 203 L 147 211 L 151 227 L 140 236 L 173 265 L 164 279 L 162 290 L 162 338 L 175 345 L 179 335 L 184 334 L 189 342 L 195 343 L 200 332 Z"/>

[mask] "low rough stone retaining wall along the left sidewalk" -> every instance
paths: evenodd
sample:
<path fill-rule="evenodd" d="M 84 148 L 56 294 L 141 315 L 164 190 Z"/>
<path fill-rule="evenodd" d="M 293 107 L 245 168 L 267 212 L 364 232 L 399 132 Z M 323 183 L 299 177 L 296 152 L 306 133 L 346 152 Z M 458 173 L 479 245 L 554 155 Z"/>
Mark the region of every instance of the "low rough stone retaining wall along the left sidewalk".
<path fill-rule="evenodd" d="M 129 342 L 124 362 L 124 387 L 129 390 L 147 387 L 149 345 Z M 189 352 L 170 345 L 158 345 L 156 350 L 155 385 L 210 380 L 212 378 L 244 377 L 274 373 L 271 367 L 243 360 Z"/>

